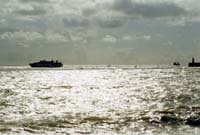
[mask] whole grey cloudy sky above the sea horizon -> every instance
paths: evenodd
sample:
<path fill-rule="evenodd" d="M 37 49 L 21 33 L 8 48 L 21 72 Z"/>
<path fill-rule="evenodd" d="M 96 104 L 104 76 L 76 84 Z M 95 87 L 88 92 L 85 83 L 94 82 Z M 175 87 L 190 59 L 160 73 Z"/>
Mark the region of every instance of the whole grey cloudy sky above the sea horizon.
<path fill-rule="evenodd" d="M 0 0 L 0 65 L 200 61 L 199 0 Z"/>

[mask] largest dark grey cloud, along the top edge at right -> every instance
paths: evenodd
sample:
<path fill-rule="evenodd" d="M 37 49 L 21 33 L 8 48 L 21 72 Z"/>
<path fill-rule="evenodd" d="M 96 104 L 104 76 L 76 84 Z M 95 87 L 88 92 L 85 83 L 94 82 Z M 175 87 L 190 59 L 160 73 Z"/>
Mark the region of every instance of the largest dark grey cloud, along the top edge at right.
<path fill-rule="evenodd" d="M 132 0 L 116 0 L 113 9 L 129 16 L 146 18 L 165 18 L 185 15 L 184 8 L 172 2 L 133 2 Z"/>

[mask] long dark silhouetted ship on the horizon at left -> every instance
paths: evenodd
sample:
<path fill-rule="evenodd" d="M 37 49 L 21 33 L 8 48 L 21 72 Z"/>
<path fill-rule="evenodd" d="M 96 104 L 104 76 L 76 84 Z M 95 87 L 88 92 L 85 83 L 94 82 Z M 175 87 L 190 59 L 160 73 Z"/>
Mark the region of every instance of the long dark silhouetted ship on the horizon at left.
<path fill-rule="evenodd" d="M 56 61 L 47 61 L 47 60 L 41 60 L 39 62 L 34 62 L 29 64 L 31 67 L 48 67 L 48 68 L 54 68 L 54 67 L 62 67 L 63 64 L 61 62 Z"/>

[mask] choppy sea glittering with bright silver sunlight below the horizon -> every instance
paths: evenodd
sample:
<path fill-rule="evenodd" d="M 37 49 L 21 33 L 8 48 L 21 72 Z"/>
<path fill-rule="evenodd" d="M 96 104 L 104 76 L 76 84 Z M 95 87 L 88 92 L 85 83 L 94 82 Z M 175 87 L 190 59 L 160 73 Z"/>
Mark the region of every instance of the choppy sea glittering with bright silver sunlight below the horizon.
<path fill-rule="evenodd" d="M 0 134 L 199 135 L 200 69 L 0 67 Z"/>

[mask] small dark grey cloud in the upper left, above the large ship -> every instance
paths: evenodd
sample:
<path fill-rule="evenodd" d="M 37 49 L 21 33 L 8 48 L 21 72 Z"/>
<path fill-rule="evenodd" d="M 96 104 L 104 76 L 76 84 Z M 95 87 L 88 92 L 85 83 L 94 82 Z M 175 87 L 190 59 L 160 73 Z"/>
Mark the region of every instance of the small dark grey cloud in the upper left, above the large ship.
<path fill-rule="evenodd" d="M 44 15 L 46 14 L 46 10 L 43 8 L 40 8 L 38 6 L 33 6 L 32 9 L 19 9 L 16 10 L 15 13 L 23 15 L 23 16 L 38 16 L 38 15 Z"/>

